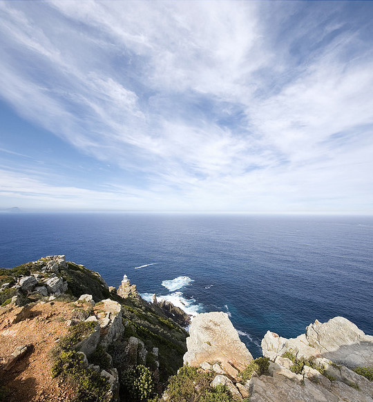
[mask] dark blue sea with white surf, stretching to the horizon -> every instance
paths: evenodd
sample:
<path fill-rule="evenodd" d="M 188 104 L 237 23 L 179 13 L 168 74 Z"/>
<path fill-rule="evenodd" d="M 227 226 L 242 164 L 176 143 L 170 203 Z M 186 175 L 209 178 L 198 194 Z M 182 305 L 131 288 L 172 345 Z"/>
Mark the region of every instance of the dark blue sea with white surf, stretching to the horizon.
<path fill-rule="evenodd" d="M 0 227 L 0 266 L 66 254 L 109 285 L 127 274 L 144 297 L 229 313 L 254 356 L 267 330 L 315 319 L 373 334 L 373 217 L 3 213 Z"/>

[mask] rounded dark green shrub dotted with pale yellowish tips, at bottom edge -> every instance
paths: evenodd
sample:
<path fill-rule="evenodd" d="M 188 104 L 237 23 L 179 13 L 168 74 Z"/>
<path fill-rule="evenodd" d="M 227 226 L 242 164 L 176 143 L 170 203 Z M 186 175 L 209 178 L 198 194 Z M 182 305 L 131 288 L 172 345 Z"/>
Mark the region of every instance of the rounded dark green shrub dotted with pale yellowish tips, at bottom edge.
<path fill-rule="evenodd" d="M 133 402 L 147 401 L 154 391 L 151 371 L 144 365 L 137 365 L 135 368 L 122 372 L 120 385 Z"/>

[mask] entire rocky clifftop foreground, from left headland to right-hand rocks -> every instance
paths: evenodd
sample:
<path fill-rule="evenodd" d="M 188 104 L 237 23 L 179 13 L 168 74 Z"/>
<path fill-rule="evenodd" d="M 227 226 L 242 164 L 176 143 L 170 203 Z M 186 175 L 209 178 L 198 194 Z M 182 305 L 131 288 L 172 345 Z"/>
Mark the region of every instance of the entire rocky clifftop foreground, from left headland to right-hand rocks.
<path fill-rule="evenodd" d="M 64 256 L 1 269 L 0 303 L 1 402 L 373 402 L 373 337 L 343 317 L 253 359 L 227 314 L 187 337 L 182 310 Z"/>

